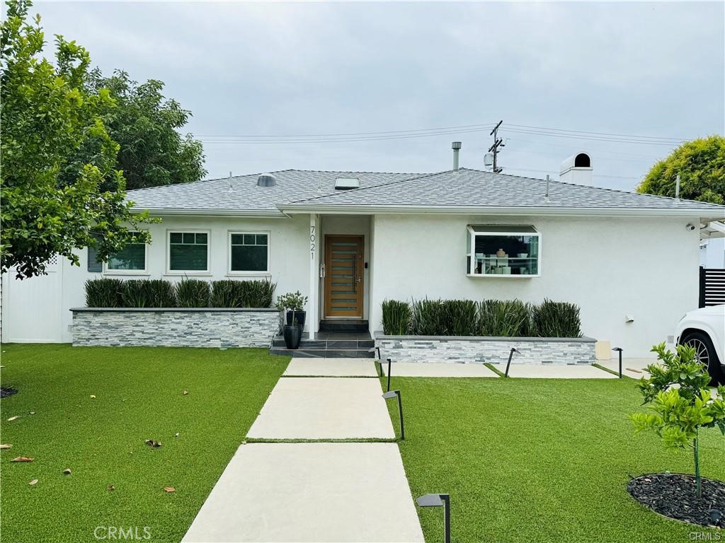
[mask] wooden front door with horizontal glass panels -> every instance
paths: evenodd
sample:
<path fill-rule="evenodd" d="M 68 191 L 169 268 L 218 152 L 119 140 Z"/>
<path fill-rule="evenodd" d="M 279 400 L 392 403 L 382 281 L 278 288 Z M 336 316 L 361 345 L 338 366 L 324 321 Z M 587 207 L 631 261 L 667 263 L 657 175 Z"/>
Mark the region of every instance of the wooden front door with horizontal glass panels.
<path fill-rule="evenodd" d="M 325 316 L 363 318 L 363 236 L 325 236 Z"/>

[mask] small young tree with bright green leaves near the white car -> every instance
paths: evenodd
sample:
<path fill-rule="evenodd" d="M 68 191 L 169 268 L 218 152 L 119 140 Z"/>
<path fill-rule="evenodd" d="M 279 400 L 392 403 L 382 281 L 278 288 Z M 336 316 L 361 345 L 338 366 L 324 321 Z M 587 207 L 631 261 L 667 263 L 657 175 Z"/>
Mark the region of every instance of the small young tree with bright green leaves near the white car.
<path fill-rule="evenodd" d="M 637 433 L 654 430 L 668 449 L 692 448 L 697 497 L 702 497 L 699 432 L 717 426 L 725 436 L 725 387 L 711 393 L 710 376 L 694 348 L 678 345 L 673 353 L 660 343 L 652 350 L 661 364 L 647 366 L 650 378 L 642 377 L 637 385 L 650 412 L 630 418 Z"/>

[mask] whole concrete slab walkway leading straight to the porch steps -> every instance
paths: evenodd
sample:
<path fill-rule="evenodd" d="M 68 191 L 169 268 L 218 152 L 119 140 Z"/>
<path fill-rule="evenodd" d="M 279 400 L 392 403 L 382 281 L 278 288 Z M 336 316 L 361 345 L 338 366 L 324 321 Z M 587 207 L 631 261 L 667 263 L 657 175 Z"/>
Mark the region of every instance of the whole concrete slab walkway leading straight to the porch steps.
<path fill-rule="evenodd" d="M 325 374 L 334 377 L 310 377 Z M 374 376 L 372 359 L 293 359 L 248 437 L 393 439 Z M 423 543 L 423 531 L 397 443 L 254 442 L 182 541 Z"/>

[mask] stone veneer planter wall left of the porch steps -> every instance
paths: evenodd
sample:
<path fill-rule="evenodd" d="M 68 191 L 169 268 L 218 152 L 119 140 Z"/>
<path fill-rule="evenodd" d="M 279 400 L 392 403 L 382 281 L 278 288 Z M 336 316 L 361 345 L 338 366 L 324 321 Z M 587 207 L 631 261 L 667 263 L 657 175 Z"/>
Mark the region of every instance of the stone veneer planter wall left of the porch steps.
<path fill-rule="evenodd" d="M 274 308 L 72 308 L 73 345 L 269 347 Z"/>

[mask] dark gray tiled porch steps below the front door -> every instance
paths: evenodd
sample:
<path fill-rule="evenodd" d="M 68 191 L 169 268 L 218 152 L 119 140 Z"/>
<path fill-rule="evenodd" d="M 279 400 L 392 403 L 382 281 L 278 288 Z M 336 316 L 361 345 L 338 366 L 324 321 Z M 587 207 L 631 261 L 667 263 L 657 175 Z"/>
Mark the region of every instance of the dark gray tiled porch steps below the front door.
<path fill-rule="evenodd" d="M 373 358 L 368 350 L 375 345 L 370 333 L 361 332 L 319 332 L 315 340 L 299 342 L 299 349 L 288 349 L 284 337 L 275 336 L 270 346 L 270 355 L 295 356 L 300 358 Z"/>

